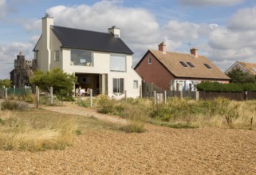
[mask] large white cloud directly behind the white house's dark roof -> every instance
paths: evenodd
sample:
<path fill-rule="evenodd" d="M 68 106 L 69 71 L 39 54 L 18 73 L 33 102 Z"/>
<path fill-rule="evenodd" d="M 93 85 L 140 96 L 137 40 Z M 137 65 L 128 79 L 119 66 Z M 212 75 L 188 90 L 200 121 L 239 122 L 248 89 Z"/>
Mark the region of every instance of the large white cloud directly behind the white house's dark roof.
<path fill-rule="evenodd" d="M 137 58 L 138 52 L 146 52 L 155 42 L 160 42 L 159 24 L 152 14 L 143 9 L 119 6 L 115 1 L 96 2 L 93 6 L 55 6 L 47 13 L 54 18 L 54 25 L 100 32 L 107 32 L 109 27 L 116 25 L 121 29 L 121 38 Z"/>

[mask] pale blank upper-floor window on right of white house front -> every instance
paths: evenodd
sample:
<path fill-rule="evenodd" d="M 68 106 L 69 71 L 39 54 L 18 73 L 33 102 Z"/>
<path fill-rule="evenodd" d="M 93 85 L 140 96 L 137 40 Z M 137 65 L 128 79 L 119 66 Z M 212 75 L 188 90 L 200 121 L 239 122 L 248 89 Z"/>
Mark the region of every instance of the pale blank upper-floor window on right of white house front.
<path fill-rule="evenodd" d="M 124 55 L 111 54 L 110 56 L 110 71 L 125 72 L 126 58 Z"/>

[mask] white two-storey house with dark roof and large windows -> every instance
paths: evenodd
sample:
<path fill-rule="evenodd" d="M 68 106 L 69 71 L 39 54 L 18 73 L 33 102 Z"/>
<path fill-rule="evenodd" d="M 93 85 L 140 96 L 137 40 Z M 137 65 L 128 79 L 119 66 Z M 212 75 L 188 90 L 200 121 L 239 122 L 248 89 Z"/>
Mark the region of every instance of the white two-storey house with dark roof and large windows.
<path fill-rule="evenodd" d="M 81 88 L 94 95 L 128 97 L 140 95 L 141 78 L 132 68 L 132 50 L 120 39 L 120 29 L 108 33 L 53 25 L 53 18 L 42 18 L 42 34 L 33 49 L 37 68 L 47 72 L 61 68 L 77 76 Z"/>

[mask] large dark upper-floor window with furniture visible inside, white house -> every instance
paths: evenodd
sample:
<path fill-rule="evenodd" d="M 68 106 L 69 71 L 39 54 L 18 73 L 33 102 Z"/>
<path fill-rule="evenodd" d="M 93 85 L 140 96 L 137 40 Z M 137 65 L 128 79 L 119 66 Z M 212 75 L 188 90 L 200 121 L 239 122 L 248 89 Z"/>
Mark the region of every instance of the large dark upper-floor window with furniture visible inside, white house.
<path fill-rule="evenodd" d="M 93 66 L 93 52 L 71 49 L 71 65 Z"/>

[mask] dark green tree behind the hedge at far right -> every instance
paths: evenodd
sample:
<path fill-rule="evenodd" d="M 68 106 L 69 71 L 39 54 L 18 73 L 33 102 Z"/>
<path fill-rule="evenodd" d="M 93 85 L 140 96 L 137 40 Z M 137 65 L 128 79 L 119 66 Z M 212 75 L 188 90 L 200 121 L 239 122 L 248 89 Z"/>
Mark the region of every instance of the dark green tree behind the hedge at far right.
<path fill-rule="evenodd" d="M 256 83 L 256 77 L 250 75 L 248 72 L 242 72 L 241 69 L 233 69 L 228 72 L 226 76 L 231 78 L 230 83 L 246 84 L 246 83 Z"/>

